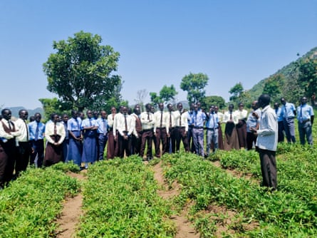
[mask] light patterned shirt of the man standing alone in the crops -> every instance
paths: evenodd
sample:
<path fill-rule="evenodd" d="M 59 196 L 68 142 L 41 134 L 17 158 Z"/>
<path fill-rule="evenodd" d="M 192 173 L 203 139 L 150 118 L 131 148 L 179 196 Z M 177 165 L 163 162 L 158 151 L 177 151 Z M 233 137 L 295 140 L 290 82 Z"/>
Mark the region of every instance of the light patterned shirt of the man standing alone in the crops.
<path fill-rule="evenodd" d="M 258 135 L 256 146 L 262 150 L 276 151 L 278 138 L 278 123 L 274 109 L 270 105 L 263 108 L 259 130 L 256 130 Z"/>

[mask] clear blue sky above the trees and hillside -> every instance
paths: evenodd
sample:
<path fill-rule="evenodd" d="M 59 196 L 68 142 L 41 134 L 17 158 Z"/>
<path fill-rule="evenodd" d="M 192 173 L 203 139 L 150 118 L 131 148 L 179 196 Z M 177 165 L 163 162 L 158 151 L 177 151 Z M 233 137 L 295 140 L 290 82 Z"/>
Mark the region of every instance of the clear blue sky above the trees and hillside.
<path fill-rule="evenodd" d="M 123 99 L 172 84 L 177 100 L 189 73 L 209 77 L 207 95 L 229 100 L 317 46 L 317 0 L 0 1 L 0 107 L 41 107 L 43 63 L 53 41 L 98 34 L 120 53 Z M 146 102 L 150 101 L 147 97 Z"/>

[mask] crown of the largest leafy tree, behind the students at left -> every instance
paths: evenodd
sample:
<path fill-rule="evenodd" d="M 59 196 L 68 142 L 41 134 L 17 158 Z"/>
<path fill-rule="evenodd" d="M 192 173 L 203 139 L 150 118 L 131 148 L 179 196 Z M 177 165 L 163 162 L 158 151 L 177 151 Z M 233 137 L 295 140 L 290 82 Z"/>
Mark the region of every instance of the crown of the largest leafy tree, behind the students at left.
<path fill-rule="evenodd" d="M 58 95 L 68 109 L 93 108 L 112 98 L 120 86 L 120 76 L 112 75 L 118 68 L 119 53 L 111 46 L 101 46 L 98 35 L 80 31 L 68 41 L 53 41 L 43 71 L 48 77 L 48 90 Z"/>

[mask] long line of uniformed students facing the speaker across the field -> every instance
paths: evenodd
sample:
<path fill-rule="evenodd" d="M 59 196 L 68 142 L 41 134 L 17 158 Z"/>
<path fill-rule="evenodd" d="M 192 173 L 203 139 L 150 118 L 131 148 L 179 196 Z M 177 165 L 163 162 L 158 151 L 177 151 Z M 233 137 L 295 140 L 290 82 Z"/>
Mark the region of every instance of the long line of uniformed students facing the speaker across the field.
<path fill-rule="evenodd" d="M 281 98 L 281 104 L 281 108 L 279 103 L 274 104 L 279 125 L 278 141 L 284 141 L 285 133 L 289 143 L 295 142 L 293 122 L 297 115 L 301 144 L 305 143 L 306 137 L 312 145 L 313 108 L 307 104 L 307 98 L 301 98 L 297 108 L 285 98 Z M 147 103 L 144 112 L 140 105 L 135 105 L 133 110 L 120 106 L 118 113 L 113 107 L 109 115 L 105 110 L 87 110 L 86 118 L 78 110 L 72 110 L 71 118 L 67 114 L 53 113 L 46 124 L 41 122 L 40 113 L 36 113 L 32 120 L 30 118 L 27 124 L 25 109 L 19 111 L 19 118 L 13 122 L 11 110 L 5 108 L 1 111 L 0 123 L 0 188 L 19 176 L 28 164 L 42 167 L 73 161 L 86 169 L 90 163 L 105 157 L 130 155 L 140 155 L 150 161 L 152 145 L 155 157 L 179 151 L 181 142 L 185 152 L 202 157 L 208 157 L 210 152 L 218 149 L 251 150 L 256 145 L 261 110 L 256 100 L 249 113 L 243 103 L 238 106 L 234 110 L 234 105 L 230 104 L 228 110 L 221 113 L 217 105 L 203 110 L 200 103 L 191 103 L 189 110 L 184 110 L 182 103 L 177 103 L 176 109 L 169 103 L 165 110 L 164 103 L 159 103 L 155 111 L 153 105 Z M 225 124 L 224 133 L 222 123 Z"/>

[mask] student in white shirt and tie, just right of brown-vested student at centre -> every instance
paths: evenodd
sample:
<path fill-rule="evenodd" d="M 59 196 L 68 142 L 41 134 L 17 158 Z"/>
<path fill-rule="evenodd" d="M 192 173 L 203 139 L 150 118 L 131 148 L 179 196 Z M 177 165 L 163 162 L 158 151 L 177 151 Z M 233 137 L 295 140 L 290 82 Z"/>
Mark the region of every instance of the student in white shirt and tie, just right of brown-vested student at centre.
<path fill-rule="evenodd" d="M 154 118 L 151 113 L 151 104 L 147 103 L 145 105 L 145 112 L 141 113 L 141 123 L 142 123 L 142 142 L 140 156 L 143 157 L 145 154 L 145 143 L 147 143 L 147 161 L 152 160 L 152 138 L 154 129 Z"/>

